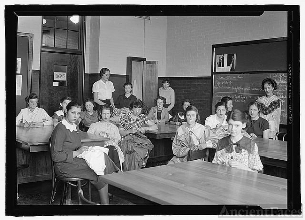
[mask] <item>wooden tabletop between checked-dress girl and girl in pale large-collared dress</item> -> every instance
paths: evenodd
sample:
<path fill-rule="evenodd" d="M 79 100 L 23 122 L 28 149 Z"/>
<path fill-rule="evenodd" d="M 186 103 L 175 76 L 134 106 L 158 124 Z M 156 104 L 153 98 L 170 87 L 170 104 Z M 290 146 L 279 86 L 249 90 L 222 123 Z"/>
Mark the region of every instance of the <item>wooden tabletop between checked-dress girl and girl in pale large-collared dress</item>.
<path fill-rule="evenodd" d="M 157 124 L 158 130 L 149 130 L 145 133 L 147 137 L 155 139 L 175 137 L 179 125 L 160 123 Z"/>

